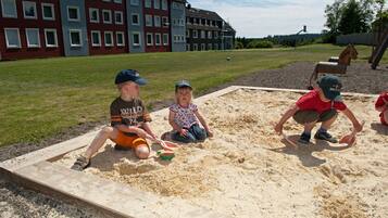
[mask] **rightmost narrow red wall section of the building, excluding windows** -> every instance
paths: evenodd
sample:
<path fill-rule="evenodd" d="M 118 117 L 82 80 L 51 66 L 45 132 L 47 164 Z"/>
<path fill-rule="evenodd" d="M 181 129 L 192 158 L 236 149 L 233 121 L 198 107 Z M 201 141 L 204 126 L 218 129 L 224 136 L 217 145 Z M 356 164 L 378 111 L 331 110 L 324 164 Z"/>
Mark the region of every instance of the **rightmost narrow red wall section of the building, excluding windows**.
<path fill-rule="evenodd" d="M 171 22 L 170 21 L 170 4 L 171 4 L 171 1 L 168 0 L 168 7 L 167 7 L 167 10 L 162 10 L 162 9 L 153 9 L 153 1 L 152 1 L 152 8 L 149 9 L 149 8 L 146 8 L 143 7 L 143 24 L 145 24 L 145 46 L 146 46 L 146 52 L 167 52 L 167 51 L 171 51 L 171 31 L 170 31 L 170 26 L 171 26 Z M 160 8 L 162 8 L 162 1 L 160 3 Z M 149 26 L 146 26 L 146 14 L 151 14 L 152 15 L 152 18 L 153 18 L 153 15 L 157 15 L 157 16 L 161 16 L 161 27 L 149 27 Z M 168 17 L 168 23 L 170 23 L 170 26 L 167 28 L 163 28 L 163 22 L 162 22 L 162 16 L 166 16 Z M 154 25 L 154 23 L 153 23 Z M 152 33 L 153 34 L 153 46 L 147 46 L 147 34 L 148 33 Z M 162 38 L 162 44 L 161 46 L 155 46 L 155 34 L 161 34 L 161 38 Z M 168 34 L 168 46 L 163 46 L 163 34 Z"/>

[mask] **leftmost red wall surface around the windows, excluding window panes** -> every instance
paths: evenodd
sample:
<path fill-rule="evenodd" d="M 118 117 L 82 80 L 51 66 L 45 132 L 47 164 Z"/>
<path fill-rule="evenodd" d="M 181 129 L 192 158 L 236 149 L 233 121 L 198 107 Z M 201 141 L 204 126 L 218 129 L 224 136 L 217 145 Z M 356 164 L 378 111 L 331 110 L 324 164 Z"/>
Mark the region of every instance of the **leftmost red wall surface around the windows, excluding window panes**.
<path fill-rule="evenodd" d="M 61 56 L 63 51 L 63 39 L 61 28 L 61 13 L 58 0 L 29 0 L 37 2 L 37 20 L 26 20 L 23 14 L 22 0 L 16 0 L 17 18 L 3 18 L 0 16 L 0 52 L 1 60 L 34 59 Z M 41 3 L 53 3 L 55 21 L 43 21 L 41 13 Z M 1 5 L 0 5 L 1 7 Z M 20 49 L 7 49 L 4 28 L 18 28 L 21 46 Z M 25 28 L 39 28 L 40 48 L 27 48 Z M 55 28 L 58 36 L 58 48 L 46 48 L 45 28 Z"/>

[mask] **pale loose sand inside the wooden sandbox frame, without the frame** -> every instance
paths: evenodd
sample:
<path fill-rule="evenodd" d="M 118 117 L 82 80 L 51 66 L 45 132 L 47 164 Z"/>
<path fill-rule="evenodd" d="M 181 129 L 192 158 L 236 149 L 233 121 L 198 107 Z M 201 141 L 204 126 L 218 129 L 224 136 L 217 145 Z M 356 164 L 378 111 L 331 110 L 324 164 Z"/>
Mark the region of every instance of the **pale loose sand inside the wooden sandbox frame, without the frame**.
<path fill-rule="evenodd" d="M 138 161 L 108 142 L 85 174 L 231 217 L 388 217 L 388 130 L 379 125 L 375 99 L 345 98 L 366 121 L 354 146 L 312 140 L 295 149 L 273 132 L 273 124 L 299 97 L 241 89 L 209 100 L 199 108 L 214 138 L 179 148 L 172 162 Z M 159 134 L 171 129 L 166 113 L 153 119 Z M 293 120 L 285 126 L 292 139 L 301 130 Z M 340 115 L 330 132 L 340 137 L 350 130 Z M 57 164 L 70 167 L 80 152 Z"/>

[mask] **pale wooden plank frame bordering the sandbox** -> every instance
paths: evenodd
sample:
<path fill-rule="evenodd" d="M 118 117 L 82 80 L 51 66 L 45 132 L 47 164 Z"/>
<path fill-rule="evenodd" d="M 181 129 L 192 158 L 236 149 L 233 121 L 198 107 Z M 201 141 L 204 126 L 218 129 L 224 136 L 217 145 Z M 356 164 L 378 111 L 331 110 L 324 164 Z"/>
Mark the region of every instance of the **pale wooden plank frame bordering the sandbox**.
<path fill-rule="evenodd" d="M 308 90 L 296 89 L 231 86 L 200 97 L 195 102 L 202 103 L 238 89 L 308 92 Z M 342 93 L 342 95 L 377 98 L 375 94 L 360 93 Z M 153 112 L 152 115 L 163 114 L 166 110 Z M 27 189 L 67 203 L 92 207 L 108 217 L 227 217 L 206 208 L 190 205 L 187 201 L 180 198 L 162 197 L 52 163 L 72 151 L 86 146 L 97 132 L 98 130 L 91 131 L 72 140 L 0 163 L 0 176 Z M 161 214 L 154 214 L 147 209 L 151 207 L 160 208 Z"/>

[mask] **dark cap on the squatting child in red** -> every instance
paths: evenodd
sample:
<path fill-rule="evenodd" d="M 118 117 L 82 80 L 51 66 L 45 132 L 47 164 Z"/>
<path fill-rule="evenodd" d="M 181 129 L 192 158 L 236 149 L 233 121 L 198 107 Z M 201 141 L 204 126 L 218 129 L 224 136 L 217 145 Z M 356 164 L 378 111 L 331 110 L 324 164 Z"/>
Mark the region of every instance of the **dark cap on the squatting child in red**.
<path fill-rule="evenodd" d="M 327 75 L 322 77 L 317 84 L 327 99 L 336 100 L 341 97 L 342 84 L 338 77 Z"/>

